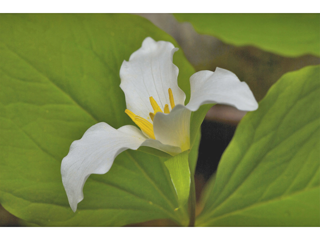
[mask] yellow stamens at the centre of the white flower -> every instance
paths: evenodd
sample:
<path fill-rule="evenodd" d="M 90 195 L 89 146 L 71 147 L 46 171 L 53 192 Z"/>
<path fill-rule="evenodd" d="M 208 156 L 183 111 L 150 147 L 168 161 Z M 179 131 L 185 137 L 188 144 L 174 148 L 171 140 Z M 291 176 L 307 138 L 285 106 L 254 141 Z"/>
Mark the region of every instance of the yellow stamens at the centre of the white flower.
<path fill-rule="evenodd" d="M 170 101 L 170 106 L 171 106 L 171 110 L 174 107 L 174 99 L 173 99 L 173 94 L 172 94 L 172 90 L 171 88 L 168 89 L 169 92 L 169 101 Z M 149 97 L 150 100 L 150 104 L 153 108 L 153 112 L 149 113 L 149 116 L 151 118 L 151 120 L 153 121 L 154 115 L 155 113 L 157 113 L 158 111 L 160 112 L 164 112 L 164 113 L 170 113 L 169 111 L 169 105 L 165 104 L 163 111 L 162 109 L 159 107 L 158 103 L 153 99 L 152 96 Z M 138 115 L 135 115 L 132 111 L 130 111 L 129 109 L 125 109 L 124 111 L 126 114 L 128 114 L 128 116 L 131 118 L 131 120 L 138 126 L 140 127 L 140 129 L 142 131 L 144 131 L 150 138 L 155 139 L 154 137 L 154 133 L 153 133 L 153 125 L 152 123 L 150 123 L 148 120 L 144 119 L 143 117 L 140 117 Z"/>

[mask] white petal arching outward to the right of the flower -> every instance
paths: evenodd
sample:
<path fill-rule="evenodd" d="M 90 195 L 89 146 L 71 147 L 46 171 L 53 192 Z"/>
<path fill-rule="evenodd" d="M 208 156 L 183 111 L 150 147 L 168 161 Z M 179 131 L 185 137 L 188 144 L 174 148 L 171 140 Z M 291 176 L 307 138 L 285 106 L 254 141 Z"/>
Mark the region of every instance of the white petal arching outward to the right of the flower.
<path fill-rule="evenodd" d="M 190 77 L 191 96 L 186 105 L 195 111 L 206 103 L 231 105 L 239 110 L 253 111 L 256 102 L 249 86 L 231 71 L 216 67 L 215 71 L 198 71 Z"/>

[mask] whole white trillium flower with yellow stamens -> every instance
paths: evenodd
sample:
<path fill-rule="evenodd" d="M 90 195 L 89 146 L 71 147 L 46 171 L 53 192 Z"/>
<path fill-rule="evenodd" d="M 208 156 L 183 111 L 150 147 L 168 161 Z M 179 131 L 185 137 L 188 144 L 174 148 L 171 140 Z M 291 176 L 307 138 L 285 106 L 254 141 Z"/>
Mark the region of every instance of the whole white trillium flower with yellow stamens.
<path fill-rule="evenodd" d="M 61 163 L 62 182 L 73 211 L 83 199 L 82 188 L 92 173 L 106 173 L 114 158 L 126 149 L 149 146 L 171 155 L 190 148 L 190 114 L 202 104 L 221 103 L 251 111 L 258 104 L 245 82 L 225 69 L 198 71 L 190 77 L 190 101 L 177 84 L 178 68 L 172 63 L 175 48 L 167 41 L 143 40 L 120 68 L 125 113 L 140 128 L 114 129 L 99 122 L 72 142 Z M 123 109 L 124 110 L 124 109 Z"/>

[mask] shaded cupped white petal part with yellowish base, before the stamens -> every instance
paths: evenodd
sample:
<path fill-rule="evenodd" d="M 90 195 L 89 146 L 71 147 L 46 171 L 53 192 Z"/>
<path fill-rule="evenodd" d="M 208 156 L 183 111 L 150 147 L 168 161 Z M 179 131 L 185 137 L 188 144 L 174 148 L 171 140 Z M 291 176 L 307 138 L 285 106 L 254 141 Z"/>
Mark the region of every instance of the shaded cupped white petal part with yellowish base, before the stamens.
<path fill-rule="evenodd" d="M 190 114 L 183 105 L 176 105 L 169 114 L 157 112 L 153 118 L 155 139 L 163 144 L 178 146 L 181 151 L 190 147 Z"/>

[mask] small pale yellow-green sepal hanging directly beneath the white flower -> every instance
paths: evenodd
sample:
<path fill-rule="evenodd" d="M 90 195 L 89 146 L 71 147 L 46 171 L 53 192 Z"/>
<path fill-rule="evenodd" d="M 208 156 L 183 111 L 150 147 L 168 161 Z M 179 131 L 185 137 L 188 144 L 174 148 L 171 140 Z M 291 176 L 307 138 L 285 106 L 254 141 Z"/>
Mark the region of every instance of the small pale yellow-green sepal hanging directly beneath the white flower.
<path fill-rule="evenodd" d="M 183 151 L 164 162 L 169 170 L 171 181 L 179 200 L 179 206 L 183 206 L 187 202 L 190 192 L 188 155 L 188 151 Z"/>

